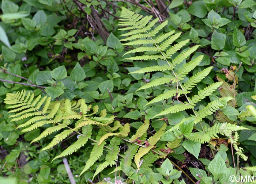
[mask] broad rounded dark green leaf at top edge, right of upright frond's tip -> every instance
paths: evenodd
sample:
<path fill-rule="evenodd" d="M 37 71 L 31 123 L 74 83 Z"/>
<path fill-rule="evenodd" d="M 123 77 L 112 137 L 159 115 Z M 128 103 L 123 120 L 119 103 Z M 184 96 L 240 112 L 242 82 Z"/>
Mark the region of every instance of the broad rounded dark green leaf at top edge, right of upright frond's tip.
<path fill-rule="evenodd" d="M 206 16 L 208 10 L 207 10 L 207 7 L 206 7 L 206 4 L 204 3 L 204 1 L 195 1 L 189 6 L 188 12 L 192 15 L 199 17 L 199 18 L 204 18 L 204 16 Z"/>

